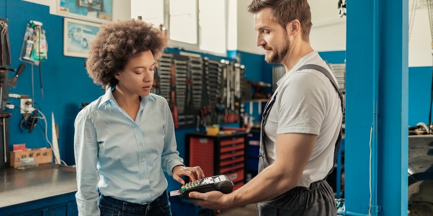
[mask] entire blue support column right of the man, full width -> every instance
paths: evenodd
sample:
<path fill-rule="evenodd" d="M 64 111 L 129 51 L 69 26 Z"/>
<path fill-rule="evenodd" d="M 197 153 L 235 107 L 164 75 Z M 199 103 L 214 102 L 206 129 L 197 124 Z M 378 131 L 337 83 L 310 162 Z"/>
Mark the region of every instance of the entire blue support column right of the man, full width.
<path fill-rule="evenodd" d="M 407 215 L 408 0 L 348 2 L 346 35 L 345 210 Z"/>

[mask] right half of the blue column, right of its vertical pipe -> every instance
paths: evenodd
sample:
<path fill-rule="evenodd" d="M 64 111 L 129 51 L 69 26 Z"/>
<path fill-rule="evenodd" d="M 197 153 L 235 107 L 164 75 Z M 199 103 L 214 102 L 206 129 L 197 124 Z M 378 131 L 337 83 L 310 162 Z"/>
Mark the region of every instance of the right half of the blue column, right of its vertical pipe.
<path fill-rule="evenodd" d="M 383 10 L 380 17 L 378 202 L 383 207 L 383 215 L 407 215 L 409 3 L 408 0 L 379 2 Z"/>

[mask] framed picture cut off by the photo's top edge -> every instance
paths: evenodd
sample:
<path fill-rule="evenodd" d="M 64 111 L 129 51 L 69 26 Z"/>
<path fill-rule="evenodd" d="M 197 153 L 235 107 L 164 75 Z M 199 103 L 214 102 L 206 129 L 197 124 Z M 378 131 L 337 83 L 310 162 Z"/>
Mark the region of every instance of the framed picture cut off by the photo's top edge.
<path fill-rule="evenodd" d="M 56 0 L 57 15 L 97 23 L 112 21 L 113 0 Z"/>

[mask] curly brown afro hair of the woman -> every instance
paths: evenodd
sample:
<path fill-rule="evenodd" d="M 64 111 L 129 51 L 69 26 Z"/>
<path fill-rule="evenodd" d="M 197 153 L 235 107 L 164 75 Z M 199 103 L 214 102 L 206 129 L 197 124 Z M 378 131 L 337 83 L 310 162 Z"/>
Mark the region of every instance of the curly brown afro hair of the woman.
<path fill-rule="evenodd" d="M 159 29 L 142 20 L 117 21 L 102 25 L 90 43 L 85 65 L 95 84 L 115 87 L 114 74 L 122 71 L 131 58 L 151 51 L 155 61 L 161 58 L 167 39 Z"/>

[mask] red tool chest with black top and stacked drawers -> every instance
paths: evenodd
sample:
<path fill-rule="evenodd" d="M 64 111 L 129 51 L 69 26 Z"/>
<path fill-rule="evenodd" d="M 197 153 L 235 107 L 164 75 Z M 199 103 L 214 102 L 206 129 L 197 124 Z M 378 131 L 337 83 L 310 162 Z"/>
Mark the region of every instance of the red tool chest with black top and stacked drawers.
<path fill-rule="evenodd" d="M 233 191 L 245 183 L 245 132 L 210 136 L 206 133 L 185 135 L 185 163 L 200 166 L 206 177 L 226 175 L 234 184 Z"/>

